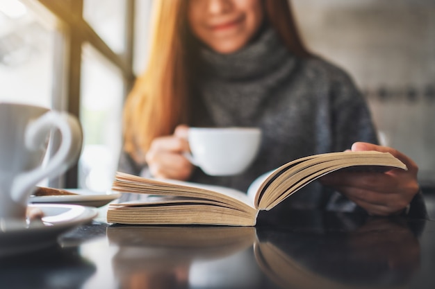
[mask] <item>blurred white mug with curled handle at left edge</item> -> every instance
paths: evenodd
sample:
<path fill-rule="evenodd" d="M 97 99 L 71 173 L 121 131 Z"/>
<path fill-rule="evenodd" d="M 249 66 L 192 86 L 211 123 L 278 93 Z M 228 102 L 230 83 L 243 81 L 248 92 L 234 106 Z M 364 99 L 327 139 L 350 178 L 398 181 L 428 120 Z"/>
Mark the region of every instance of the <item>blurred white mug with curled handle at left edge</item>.
<path fill-rule="evenodd" d="M 57 129 L 61 143 L 42 166 L 49 135 Z M 45 177 L 56 177 L 80 155 L 79 121 L 45 107 L 0 103 L 0 220 L 26 218 L 28 196 Z"/>

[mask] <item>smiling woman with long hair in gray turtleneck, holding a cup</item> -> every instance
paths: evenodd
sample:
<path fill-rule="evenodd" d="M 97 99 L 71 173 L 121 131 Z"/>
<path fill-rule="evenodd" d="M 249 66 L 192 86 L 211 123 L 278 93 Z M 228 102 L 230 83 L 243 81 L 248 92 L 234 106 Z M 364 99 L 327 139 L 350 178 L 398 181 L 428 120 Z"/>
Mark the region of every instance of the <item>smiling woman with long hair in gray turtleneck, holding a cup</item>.
<path fill-rule="evenodd" d="M 245 191 L 258 175 L 297 157 L 379 150 L 391 152 L 409 170 L 335 173 L 322 178 L 324 186 L 313 183 L 280 207 L 364 209 L 386 216 L 421 201 L 418 167 L 397 150 L 374 144 L 363 97 L 345 72 L 305 48 L 288 0 L 154 5 L 148 69 L 124 108 L 120 170 Z M 183 157 L 188 126 L 262 128 L 261 151 L 241 175 L 205 175 Z"/>

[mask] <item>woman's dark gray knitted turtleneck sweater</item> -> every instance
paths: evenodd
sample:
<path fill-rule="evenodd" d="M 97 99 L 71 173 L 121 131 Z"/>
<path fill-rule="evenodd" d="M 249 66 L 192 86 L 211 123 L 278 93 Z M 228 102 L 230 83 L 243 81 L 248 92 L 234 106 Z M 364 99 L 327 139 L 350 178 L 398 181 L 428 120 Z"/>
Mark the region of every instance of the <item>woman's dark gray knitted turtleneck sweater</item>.
<path fill-rule="evenodd" d="M 297 58 L 272 28 L 265 28 L 229 55 L 202 49 L 195 97 L 202 107 L 192 126 L 254 126 L 263 130 L 261 150 L 245 173 L 212 177 L 199 168 L 190 182 L 246 191 L 259 175 L 288 161 L 350 148 L 355 141 L 377 143 L 366 101 L 343 70 L 320 58 Z M 139 175 L 146 166 L 128 155 L 120 171 Z M 276 209 L 354 211 L 345 197 L 314 182 Z"/>

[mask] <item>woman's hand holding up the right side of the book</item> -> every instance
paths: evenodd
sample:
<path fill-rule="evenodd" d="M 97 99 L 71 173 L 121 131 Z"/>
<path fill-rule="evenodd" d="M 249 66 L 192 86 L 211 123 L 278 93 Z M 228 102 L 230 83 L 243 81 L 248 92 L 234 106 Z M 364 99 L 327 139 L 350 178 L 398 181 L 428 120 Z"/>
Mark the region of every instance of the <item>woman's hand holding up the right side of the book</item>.
<path fill-rule="evenodd" d="M 336 172 L 320 179 L 350 200 L 366 209 L 370 215 L 388 216 L 402 212 L 419 191 L 416 163 L 393 148 L 371 143 L 354 143 L 352 151 L 377 150 L 390 152 L 407 165 L 408 170 L 392 169 L 385 173 Z"/>

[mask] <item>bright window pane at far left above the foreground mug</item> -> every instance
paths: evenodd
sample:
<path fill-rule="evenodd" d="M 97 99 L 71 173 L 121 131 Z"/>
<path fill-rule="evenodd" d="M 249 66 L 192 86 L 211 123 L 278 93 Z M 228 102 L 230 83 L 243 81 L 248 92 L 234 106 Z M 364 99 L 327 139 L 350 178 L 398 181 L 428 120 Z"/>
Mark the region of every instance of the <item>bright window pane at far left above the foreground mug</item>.
<path fill-rule="evenodd" d="M 0 2 L 0 100 L 51 107 L 54 37 L 21 2 Z"/>

